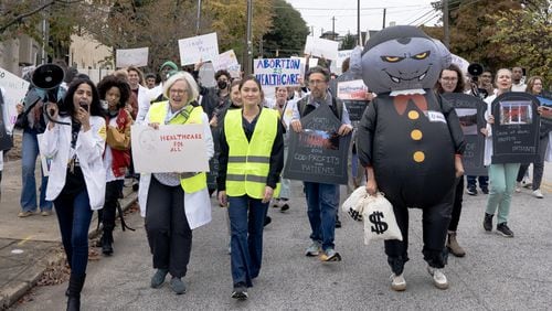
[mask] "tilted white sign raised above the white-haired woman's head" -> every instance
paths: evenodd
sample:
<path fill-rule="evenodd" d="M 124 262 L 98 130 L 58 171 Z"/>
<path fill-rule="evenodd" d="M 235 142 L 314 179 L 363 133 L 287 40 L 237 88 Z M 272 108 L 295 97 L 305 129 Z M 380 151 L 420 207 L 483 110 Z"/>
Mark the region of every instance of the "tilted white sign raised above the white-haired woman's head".
<path fill-rule="evenodd" d="M 213 61 L 219 57 L 219 41 L 215 32 L 180 39 L 178 49 L 182 66 Z"/>

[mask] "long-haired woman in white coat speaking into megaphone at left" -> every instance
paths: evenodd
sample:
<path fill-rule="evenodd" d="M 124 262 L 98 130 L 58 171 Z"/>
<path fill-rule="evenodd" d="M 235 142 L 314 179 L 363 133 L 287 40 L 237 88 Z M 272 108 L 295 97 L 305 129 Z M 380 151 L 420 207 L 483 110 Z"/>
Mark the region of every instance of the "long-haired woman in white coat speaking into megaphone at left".
<path fill-rule="evenodd" d="M 49 103 L 42 140 L 51 159 L 46 200 L 54 202 L 63 248 L 71 268 L 67 310 L 79 310 L 88 261 L 88 227 L 94 210 L 104 206 L 106 173 L 102 156 L 106 127 L 96 86 L 74 81 L 63 104 Z"/>

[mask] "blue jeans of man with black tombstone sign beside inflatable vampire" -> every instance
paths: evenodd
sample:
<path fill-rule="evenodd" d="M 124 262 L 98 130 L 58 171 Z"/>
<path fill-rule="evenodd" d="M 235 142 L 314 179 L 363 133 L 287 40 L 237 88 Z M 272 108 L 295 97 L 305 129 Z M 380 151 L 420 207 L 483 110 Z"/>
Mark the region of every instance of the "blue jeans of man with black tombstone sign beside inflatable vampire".
<path fill-rule="evenodd" d="M 333 248 L 336 235 L 336 213 L 339 206 L 339 185 L 305 182 L 307 215 L 312 233 L 310 238 L 322 245 L 326 251 Z"/>

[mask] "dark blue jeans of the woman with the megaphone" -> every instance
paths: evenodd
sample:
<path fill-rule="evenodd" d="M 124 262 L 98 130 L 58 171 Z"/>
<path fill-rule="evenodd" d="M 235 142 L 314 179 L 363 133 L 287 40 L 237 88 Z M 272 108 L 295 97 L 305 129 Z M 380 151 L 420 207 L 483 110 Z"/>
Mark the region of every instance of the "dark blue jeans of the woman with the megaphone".
<path fill-rule="evenodd" d="M 75 195 L 60 194 L 54 200 L 54 205 L 71 272 L 84 275 L 88 264 L 88 228 L 93 214 L 88 192 L 84 190 Z"/>

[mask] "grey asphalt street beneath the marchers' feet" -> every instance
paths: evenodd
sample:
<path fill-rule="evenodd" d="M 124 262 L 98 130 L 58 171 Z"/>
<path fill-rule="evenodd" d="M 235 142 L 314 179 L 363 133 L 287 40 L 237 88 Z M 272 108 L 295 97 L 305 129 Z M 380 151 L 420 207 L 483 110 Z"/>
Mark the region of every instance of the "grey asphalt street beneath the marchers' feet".
<path fill-rule="evenodd" d="M 551 310 L 552 309 L 552 165 L 546 164 L 543 200 L 529 190 L 514 194 L 509 225 L 514 238 L 481 226 L 486 195 L 464 195 L 458 240 L 464 258 L 449 257 L 448 290 L 432 283 L 422 258 L 421 211 L 411 210 L 407 289 L 390 289 L 383 243 L 363 245 L 362 225 L 340 213 L 336 230 L 341 262 L 322 264 L 304 256 L 309 224 L 301 184 L 294 182 L 291 208 L 269 210 L 261 276 L 247 301 L 230 297 L 226 210 L 213 200 L 213 222 L 193 233 L 184 278 L 188 291 L 176 296 L 168 282 L 149 287 L 153 274 L 144 219 L 128 217 L 136 232 L 116 232 L 115 255 L 91 261 L 82 296 L 83 310 Z M 431 195 L 431 191 L 428 191 Z M 341 200 L 344 200 L 342 196 Z M 169 278 L 167 279 L 169 280 Z M 36 287 L 15 310 L 62 310 L 66 283 Z M 30 300 L 30 301 L 29 301 Z"/>

